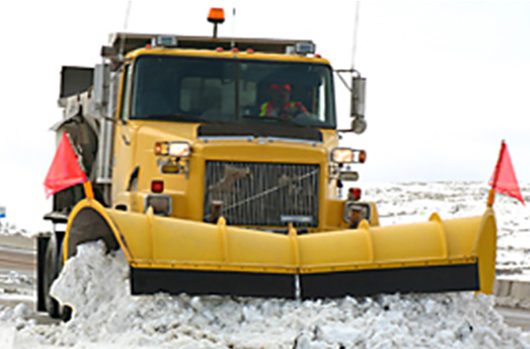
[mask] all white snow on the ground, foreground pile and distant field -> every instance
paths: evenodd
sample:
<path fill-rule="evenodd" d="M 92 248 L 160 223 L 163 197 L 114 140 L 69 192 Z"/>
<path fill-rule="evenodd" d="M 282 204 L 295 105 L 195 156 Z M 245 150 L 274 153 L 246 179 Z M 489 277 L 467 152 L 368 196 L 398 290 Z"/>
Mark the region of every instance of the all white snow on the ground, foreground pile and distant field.
<path fill-rule="evenodd" d="M 484 183 L 369 186 L 383 225 L 481 214 Z M 522 188 L 530 199 L 530 187 Z M 497 197 L 498 271 L 530 271 L 528 207 Z M 494 297 L 472 292 L 288 301 L 187 295 L 131 296 L 121 253 L 87 244 L 52 293 L 73 306 L 68 323 L 37 324 L 25 304 L 0 306 L 0 348 L 530 348 L 530 333 L 503 322 Z M 15 283 L 26 282 L 11 275 Z"/>

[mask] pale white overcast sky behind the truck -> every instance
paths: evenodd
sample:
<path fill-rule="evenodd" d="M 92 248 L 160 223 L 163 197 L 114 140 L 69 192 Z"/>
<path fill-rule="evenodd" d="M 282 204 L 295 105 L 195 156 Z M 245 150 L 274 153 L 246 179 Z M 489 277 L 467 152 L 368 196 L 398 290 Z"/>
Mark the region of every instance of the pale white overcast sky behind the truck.
<path fill-rule="evenodd" d="M 31 230 L 51 206 L 42 181 L 61 65 L 93 66 L 108 34 L 123 31 L 127 0 L 2 1 L 0 206 Z M 133 0 L 132 32 L 313 39 L 335 68 L 351 64 L 353 1 Z M 236 6 L 236 20 L 231 8 Z M 507 141 L 530 182 L 530 1 L 362 1 L 356 68 L 368 78 L 368 130 L 345 143 L 368 151 L 361 184 L 487 182 Z M 336 79 L 341 125 L 348 94 Z"/>

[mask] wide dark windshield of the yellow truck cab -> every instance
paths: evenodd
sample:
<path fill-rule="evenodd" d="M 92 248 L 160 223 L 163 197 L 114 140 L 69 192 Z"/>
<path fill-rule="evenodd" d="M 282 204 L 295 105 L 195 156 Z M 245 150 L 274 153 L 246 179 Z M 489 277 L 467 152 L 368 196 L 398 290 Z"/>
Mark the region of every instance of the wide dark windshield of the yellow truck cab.
<path fill-rule="evenodd" d="M 130 117 L 334 128 L 331 69 L 300 62 L 141 56 Z"/>

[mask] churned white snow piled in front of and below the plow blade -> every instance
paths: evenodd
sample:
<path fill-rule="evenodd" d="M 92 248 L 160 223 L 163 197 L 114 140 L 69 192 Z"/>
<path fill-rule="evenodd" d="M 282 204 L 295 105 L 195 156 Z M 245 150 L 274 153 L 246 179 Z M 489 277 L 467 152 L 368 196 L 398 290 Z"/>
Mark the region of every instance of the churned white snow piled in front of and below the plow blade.
<path fill-rule="evenodd" d="M 472 293 L 322 301 L 129 295 L 123 255 L 81 246 L 52 293 L 74 307 L 57 326 L 29 326 L 28 342 L 156 348 L 530 348 Z M 85 343 L 85 344 L 83 344 Z M 27 344 L 28 348 L 31 344 Z M 85 345 L 85 346 L 83 346 Z"/>

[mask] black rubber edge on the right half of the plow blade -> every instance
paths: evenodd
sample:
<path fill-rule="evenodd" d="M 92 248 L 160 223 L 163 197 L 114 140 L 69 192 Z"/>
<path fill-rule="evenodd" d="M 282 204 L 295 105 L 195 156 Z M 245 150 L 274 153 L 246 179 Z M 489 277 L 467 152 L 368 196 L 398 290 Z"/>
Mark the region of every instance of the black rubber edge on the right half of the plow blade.
<path fill-rule="evenodd" d="M 371 269 L 300 275 L 304 299 L 368 296 L 380 293 L 432 293 L 478 290 L 477 264 Z"/>

